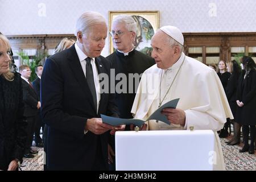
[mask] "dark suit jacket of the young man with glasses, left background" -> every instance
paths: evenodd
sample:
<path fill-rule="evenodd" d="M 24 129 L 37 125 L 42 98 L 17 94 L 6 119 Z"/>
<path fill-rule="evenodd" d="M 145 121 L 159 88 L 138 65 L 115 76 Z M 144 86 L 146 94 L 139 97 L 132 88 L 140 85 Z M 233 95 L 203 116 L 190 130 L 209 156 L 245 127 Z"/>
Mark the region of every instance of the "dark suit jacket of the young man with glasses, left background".
<path fill-rule="evenodd" d="M 24 102 L 24 116 L 32 117 L 38 113 L 38 101 L 39 97 L 36 94 L 36 91 L 30 84 L 22 79 L 23 87 L 23 102 Z"/>

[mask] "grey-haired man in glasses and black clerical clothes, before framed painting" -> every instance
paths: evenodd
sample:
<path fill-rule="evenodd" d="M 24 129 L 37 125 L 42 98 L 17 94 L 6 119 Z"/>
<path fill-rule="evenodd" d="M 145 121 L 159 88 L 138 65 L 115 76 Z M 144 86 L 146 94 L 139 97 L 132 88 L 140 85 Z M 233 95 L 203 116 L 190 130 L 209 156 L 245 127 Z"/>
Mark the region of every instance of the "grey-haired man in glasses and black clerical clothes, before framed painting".
<path fill-rule="evenodd" d="M 138 89 L 138 84 L 135 85 L 135 79 L 132 77 L 129 79 L 129 74 L 132 76 L 137 74 L 137 78 L 141 75 L 147 68 L 150 68 L 155 64 L 155 60 L 152 57 L 144 55 L 143 53 L 135 50 L 133 46 L 133 41 L 136 37 L 137 25 L 134 19 L 129 15 L 119 15 L 113 20 L 112 31 L 110 35 L 112 36 L 114 48 L 116 49 L 111 55 L 106 57 L 112 63 L 112 68 L 115 70 L 115 76 L 119 73 L 126 75 L 127 85 L 125 93 L 119 93 L 115 90 L 115 102 L 118 106 L 119 117 L 120 118 L 133 118 L 131 115 L 131 107 L 133 106 L 133 101 Z M 122 80 L 121 80 L 122 81 Z M 119 80 L 115 81 L 115 86 L 117 86 Z M 131 89 L 133 86 L 133 89 Z M 119 88 L 119 87 L 118 87 Z M 117 88 L 116 88 L 117 89 Z M 131 90 L 130 90 L 131 89 Z M 130 130 L 130 126 L 126 126 L 126 130 Z M 110 135 L 110 146 L 114 148 L 114 135 Z M 113 151 L 110 149 L 112 155 Z M 114 157 L 109 155 L 110 169 L 114 169 Z"/>

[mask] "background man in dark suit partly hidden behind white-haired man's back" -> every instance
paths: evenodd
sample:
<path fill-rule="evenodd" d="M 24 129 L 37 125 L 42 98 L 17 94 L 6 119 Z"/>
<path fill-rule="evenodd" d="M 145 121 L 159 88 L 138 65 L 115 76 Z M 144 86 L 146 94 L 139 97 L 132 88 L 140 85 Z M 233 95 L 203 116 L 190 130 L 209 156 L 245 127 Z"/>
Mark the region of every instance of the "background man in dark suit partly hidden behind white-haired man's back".
<path fill-rule="evenodd" d="M 38 77 L 34 81 L 32 81 L 32 85 L 40 100 L 40 81 L 43 73 L 43 65 L 36 66 L 35 72 Z M 42 138 L 40 137 L 41 127 L 44 131 L 44 123 L 42 123 L 41 110 L 38 109 L 38 114 L 36 115 L 36 126 L 35 126 L 35 143 L 37 147 L 43 147 L 43 141 L 42 141 Z"/>

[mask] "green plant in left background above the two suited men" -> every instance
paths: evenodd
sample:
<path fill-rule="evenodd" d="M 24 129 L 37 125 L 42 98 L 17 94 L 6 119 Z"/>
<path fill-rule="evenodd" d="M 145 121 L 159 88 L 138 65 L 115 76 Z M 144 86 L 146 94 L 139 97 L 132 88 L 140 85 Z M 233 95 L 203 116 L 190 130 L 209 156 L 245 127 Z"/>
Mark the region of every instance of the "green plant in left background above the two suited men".
<path fill-rule="evenodd" d="M 31 73 L 31 76 L 30 76 L 30 81 L 33 81 L 35 80 L 36 78 L 36 73 L 35 73 L 35 68 L 40 65 L 40 62 L 42 60 L 44 60 L 46 58 L 46 53 L 44 52 L 37 52 L 35 56 L 28 56 L 26 52 L 19 52 L 18 53 L 18 56 L 20 57 L 20 60 L 21 60 L 21 63 L 22 64 L 26 64 L 30 67 L 32 73 Z M 32 58 L 32 59 L 30 59 Z"/>

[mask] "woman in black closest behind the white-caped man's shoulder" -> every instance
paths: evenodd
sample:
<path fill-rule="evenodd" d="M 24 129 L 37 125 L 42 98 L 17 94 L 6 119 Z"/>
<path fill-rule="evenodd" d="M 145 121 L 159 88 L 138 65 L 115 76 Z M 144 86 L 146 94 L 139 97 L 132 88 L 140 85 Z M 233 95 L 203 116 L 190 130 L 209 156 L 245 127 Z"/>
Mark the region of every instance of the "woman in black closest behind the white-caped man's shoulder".
<path fill-rule="evenodd" d="M 228 80 L 230 77 L 230 73 L 227 72 L 226 63 L 223 60 L 218 61 L 218 77 L 221 80 L 221 84 L 226 92 L 226 86 L 228 85 Z M 224 125 L 224 128 L 220 131 L 219 137 L 220 138 L 226 138 L 228 137 L 228 127 L 230 125 L 229 119 L 226 120 L 226 123 Z"/>

